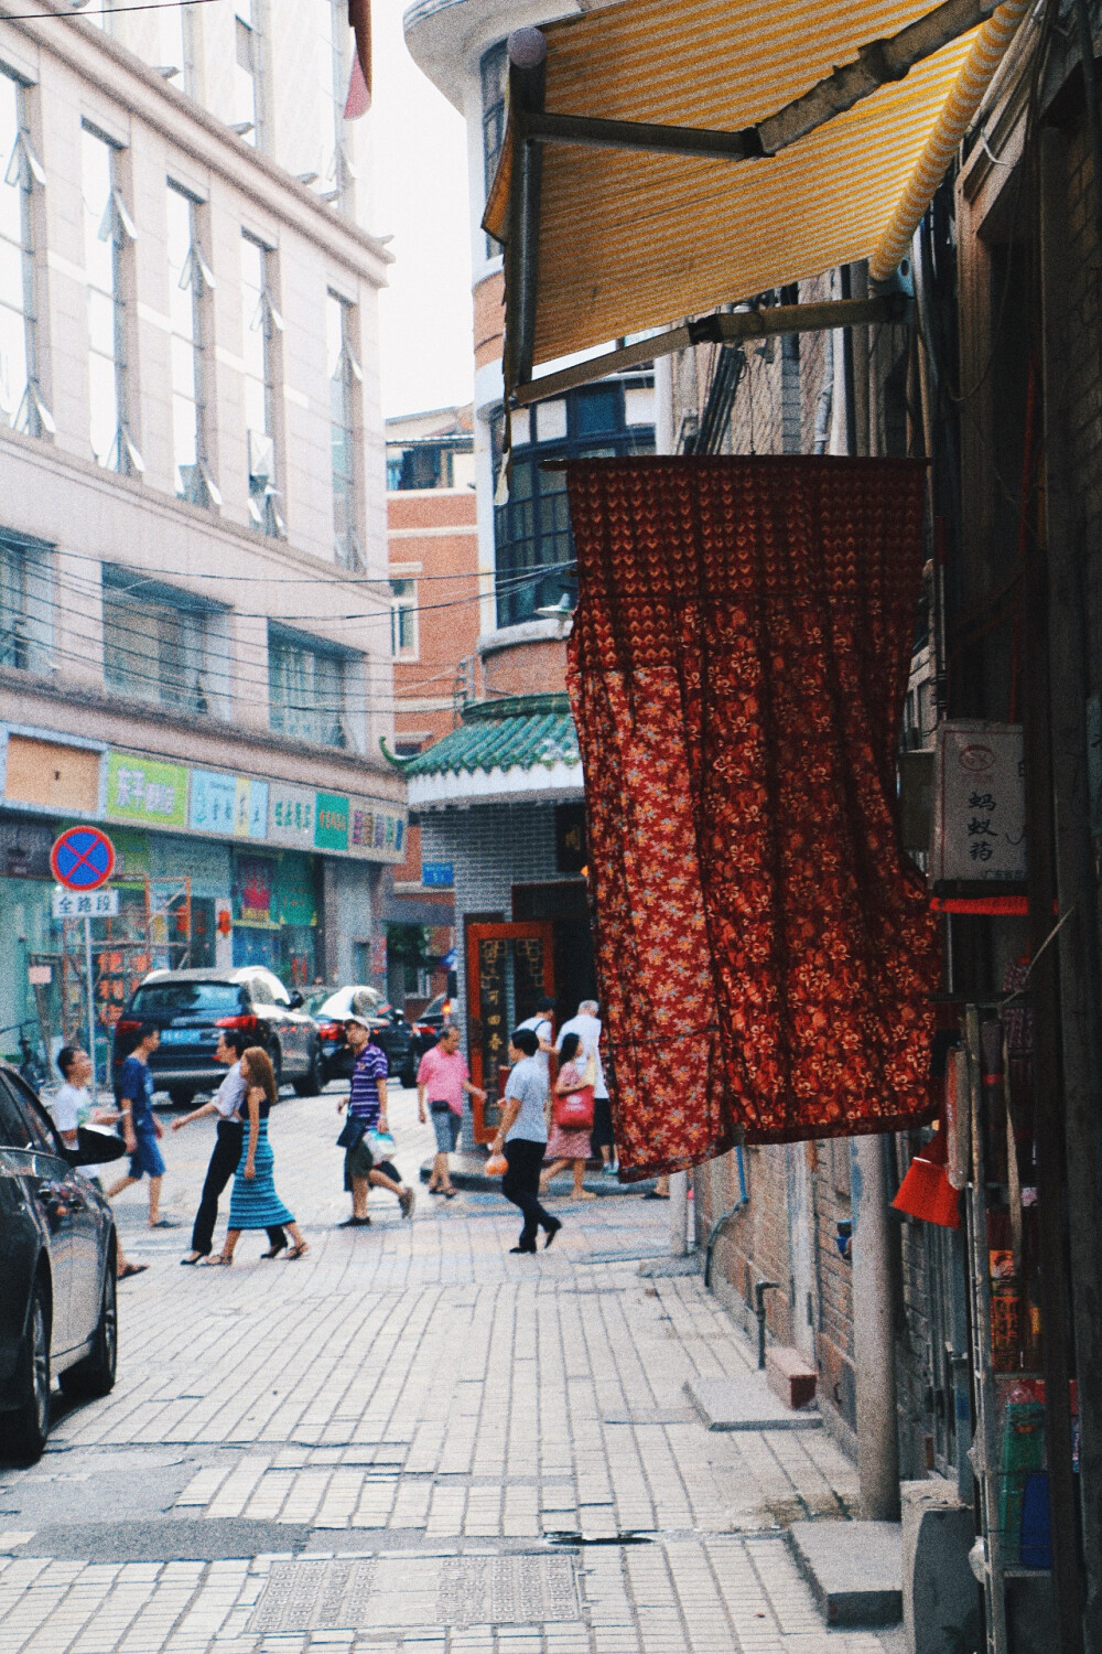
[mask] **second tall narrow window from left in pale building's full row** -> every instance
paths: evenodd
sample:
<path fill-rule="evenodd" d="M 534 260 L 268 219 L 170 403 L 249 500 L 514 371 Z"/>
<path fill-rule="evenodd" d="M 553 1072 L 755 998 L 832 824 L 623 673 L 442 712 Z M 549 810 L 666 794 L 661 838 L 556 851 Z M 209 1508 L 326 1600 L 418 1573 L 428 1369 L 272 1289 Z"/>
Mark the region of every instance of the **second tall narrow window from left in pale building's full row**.
<path fill-rule="evenodd" d="M 89 437 L 97 465 L 124 475 L 145 466 L 127 422 L 126 251 L 137 230 L 122 198 L 119 151 L 81 131 L 84 280 L 88 283 Z"/>

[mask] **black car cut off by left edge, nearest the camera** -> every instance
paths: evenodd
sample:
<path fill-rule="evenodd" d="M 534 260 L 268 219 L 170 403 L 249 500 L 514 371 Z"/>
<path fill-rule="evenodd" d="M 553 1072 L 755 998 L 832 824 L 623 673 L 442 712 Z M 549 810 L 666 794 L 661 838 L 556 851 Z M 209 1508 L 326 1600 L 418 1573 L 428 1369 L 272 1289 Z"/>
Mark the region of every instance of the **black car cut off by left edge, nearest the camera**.
<path fill-rule="evenodd" d="M 3 1459 L 33 1464 L 46 1446 L 51 1374 L 68 1396 L 106 1396 L 114 1384 L 114 1216 L 76 1168 L 121 1153 L 121 1138 L 96 1131 L 66 1150 L 30 1087 L 0 1064 Z"/>

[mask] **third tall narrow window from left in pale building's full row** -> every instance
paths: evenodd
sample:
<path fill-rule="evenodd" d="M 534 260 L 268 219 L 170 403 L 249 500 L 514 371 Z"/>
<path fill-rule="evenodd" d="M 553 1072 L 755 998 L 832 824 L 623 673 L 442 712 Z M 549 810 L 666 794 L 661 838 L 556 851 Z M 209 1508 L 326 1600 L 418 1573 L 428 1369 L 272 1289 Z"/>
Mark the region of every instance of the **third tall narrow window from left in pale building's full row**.
<path fill-rule="evenodd" d="M 177 496 L 195 506 L 220 506 L 207 463 L 203 344 L 207 296 L 215 276 L 198 235 L 200 205 L 175 184 L 167 190 L 169 318 L 172 334 L 172 458 Z"/>

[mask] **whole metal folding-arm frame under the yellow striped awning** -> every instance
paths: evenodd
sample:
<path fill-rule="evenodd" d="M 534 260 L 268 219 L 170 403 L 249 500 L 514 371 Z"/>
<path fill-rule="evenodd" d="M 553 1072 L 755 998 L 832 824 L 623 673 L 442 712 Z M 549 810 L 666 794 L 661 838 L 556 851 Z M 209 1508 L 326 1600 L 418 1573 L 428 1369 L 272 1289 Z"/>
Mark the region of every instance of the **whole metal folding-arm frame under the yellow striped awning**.
<path fill-rule="evenodd" d="M 844 114 L 889 81 L 900 81 L 915 63 L 933 56 L 960 35 L 978 28 L 996 10 L 998 0 L 943 0 L 925 17 L 897 35 L 861 46 L 857 58 L 818 81 L 810 91 L 785 104 L 757 126 L 722 132 L 705 127 L 658 126 L 636 121 L 606 121 L 596 116 L 553 114 L 545 109 L 547 65 L 509 68 L 509 126 L 502 165 L 509 167 L 509 225 L 506 240 L 506 397 L 524 407 L 570 385 L 588 384 L 620 367 L 649 361 L 663 351 L 682 349 L 701 339 L 740 339 L 767 332 L 801 332 L 824 327 L 859 326 L 862 323 L 900 319 L 897 314 L 853 313 L 877 304 L 879 299 L 838 301 L 831 306 L 783 306 L 770 311 L 710 316 L 704 323 L 687 323 L 669 334 L 641 344 L 608 351 L 588 362 L 532 379 L 535 354 L 535 304 L 539 288 L 539 227 L 544 147 L 547 144 L 583 144 L 598 149 L 626 149 L 669 155 L 696 155 L 740 162 L 770 159 L 810 132 Z M 491 192 L 494 207 L 496 187 Z M 492 235 L 492 225 L 486 222 Z M 889 294 L 897 299 L 897 294 Z M 803 318 L 803 311 L 829 309 L 833 319 Z M 786 314 L 785 326 L 765 318 Z M 750 324 L 748 318 L 755 318 Z M 724 331 L 729 326 L 735 331 Z M 692 329 L 714 327 L 697 334 Z M 739 331 L 743 327 L 745 331 Z M 666 342 L 669 341 L 669 342 Z"/>

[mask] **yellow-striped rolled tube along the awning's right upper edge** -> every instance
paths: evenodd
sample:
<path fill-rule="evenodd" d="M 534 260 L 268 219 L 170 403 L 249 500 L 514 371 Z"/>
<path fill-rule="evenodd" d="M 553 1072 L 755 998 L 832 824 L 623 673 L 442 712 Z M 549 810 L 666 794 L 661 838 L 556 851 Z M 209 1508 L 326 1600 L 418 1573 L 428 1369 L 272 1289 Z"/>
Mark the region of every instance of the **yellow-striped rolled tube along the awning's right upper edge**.
<path fill-rule="evenodd" d="M 869 260 L 869 281 L 889 281 L 900 258 L 907 255 L 910 238 L 933 200 L 933 192 L 945 177 L 960 141 L 971 126 L 1029 5 L 1031 0 L 1005 0 L 980 30 L 925 149 L 919 155 L 910 182 Z"/>

